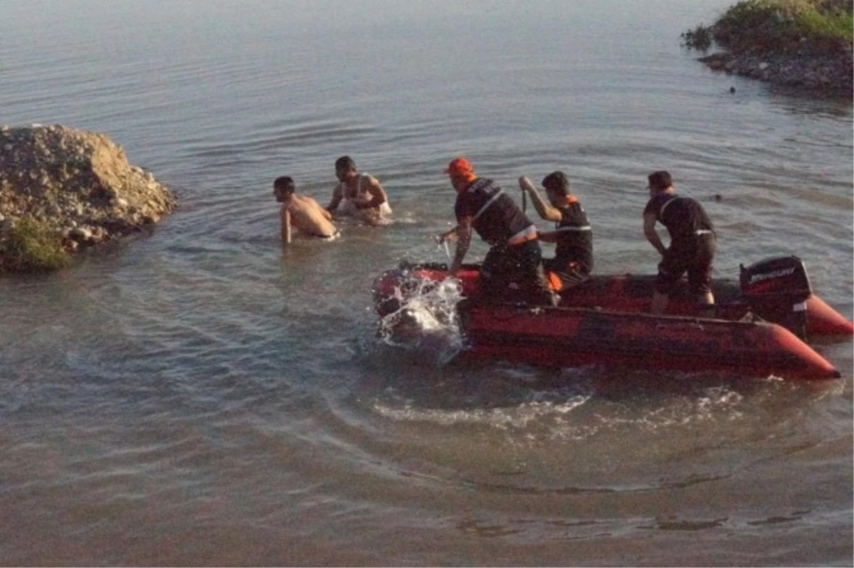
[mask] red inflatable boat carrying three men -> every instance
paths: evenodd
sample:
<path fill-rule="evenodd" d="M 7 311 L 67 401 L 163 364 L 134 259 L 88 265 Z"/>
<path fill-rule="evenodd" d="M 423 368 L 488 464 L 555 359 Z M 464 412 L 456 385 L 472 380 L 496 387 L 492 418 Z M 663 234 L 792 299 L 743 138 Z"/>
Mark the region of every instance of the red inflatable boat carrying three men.
<path fill-rule="evenodd" d="M 401 265 L 374 283 L 381 316 L 406 307 L 424 282 L 447 278 L 443 265 Z M 699 318 L 682 285 L 669 313 L 644 313 L 653 276 L 594 276 L 561 292 L 559 307 L 484 302 L 478 266 L 459 272 L 465 300 L 458 312 L 469 348 L 461 355 L 542 366 L 613 364 L 751 376 L 837 378 L 807 337 L 852 336 L 854 324 L 812 294 L 794 256 L 741 268 L 740 282 L 717 281 L 715 319 Z"/>

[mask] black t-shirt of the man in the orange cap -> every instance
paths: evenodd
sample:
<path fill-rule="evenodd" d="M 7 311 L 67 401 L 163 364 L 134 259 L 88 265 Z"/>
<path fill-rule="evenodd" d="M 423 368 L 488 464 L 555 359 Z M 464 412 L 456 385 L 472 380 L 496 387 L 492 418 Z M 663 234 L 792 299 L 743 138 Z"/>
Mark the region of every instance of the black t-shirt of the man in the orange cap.
<path fill-rule="evenodd" d="M 510 196 L 492 179 L 477 178 L 457 194 L 453 211 L 474 217 L 477 234 L 491 245 L 506 244 L 518 232 L 534 225 Z"/>

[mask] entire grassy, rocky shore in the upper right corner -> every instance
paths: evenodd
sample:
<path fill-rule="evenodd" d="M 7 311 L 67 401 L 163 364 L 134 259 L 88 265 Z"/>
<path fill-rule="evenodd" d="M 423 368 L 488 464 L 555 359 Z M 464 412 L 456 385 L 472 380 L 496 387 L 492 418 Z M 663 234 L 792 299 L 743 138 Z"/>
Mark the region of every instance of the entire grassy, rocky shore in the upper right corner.
<path fill-rule="evenodd" d="M 854 0 L 743 0 L 681 34 L 717 71 L 854 97 Z"/>

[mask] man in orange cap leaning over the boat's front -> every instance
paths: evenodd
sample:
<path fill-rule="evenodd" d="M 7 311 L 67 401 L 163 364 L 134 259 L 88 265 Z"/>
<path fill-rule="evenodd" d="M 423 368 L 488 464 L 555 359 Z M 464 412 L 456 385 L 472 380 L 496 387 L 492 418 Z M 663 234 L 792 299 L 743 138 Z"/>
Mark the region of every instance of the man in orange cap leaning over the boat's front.
<path fill-rule="evenodd" d="M 457 191 L 457 225 L 439 236 L 440 242 L 457 239 L 450 275 L 459 272 L 474 229 L 489 243 L 480 272 L 484 300 L 504 300 L 515 286 L 525 301 L 557 306 L 560 296 L 549 289 L 542 271 L 536 227 L 522 209 L 492 179 L 478 178 L 465 158 L 451 161 L 445 173 Z"/>

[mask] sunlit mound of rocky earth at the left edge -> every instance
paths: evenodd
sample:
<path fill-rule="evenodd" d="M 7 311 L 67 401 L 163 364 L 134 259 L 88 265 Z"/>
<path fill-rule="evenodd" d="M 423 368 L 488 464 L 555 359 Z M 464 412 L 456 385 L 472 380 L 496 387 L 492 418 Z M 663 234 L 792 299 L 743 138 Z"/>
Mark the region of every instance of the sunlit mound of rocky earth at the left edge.
<path fill-rule="evenodd" d="M 73 251 L 153 225 L 175 205 L 167 187 L 103 134 L 0 126 L 0 244 L 26 216 Z"/>

